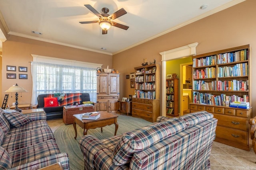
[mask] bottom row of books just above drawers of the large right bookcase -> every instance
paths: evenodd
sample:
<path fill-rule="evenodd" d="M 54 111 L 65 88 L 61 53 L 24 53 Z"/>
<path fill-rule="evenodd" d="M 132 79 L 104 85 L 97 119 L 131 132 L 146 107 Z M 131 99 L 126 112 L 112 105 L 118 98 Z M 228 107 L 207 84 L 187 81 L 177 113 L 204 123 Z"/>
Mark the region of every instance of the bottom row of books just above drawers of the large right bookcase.
<path fill-rule="evenodd" d="M 248 102 L 248 100 L 248 95 L 240 97 L 237 95 L 226 96 L 226 94 L 212 95 L 208 93 L 193 92 L 193 103 L 196 104 L 230 106 L 230 103 L 232 102 Z"/>

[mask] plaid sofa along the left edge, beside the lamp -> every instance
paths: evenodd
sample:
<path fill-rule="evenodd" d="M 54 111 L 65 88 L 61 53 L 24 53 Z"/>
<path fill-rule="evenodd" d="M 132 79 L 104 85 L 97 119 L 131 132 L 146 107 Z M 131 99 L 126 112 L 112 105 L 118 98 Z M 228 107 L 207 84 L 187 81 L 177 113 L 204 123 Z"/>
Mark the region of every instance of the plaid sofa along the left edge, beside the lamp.
<path fill-rule="evenodd" d="M 37 170 L 60 162 L 69 169 L 68 154 L 60 153 L 46 122 L 46 113 L 23 115 L 0 109 L 0 169 Z M 7 116 L 6 116 L 7 115 Z M 14 123 L 14 125 L 13 125 Z"/>

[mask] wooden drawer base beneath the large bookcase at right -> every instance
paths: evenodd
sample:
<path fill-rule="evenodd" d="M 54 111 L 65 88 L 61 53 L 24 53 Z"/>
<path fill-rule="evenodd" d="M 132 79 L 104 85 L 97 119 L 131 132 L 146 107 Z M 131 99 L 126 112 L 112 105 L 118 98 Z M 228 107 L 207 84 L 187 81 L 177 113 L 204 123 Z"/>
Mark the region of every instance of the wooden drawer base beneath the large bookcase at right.
<path fill-rule="evenodd" d="M 216 142 L 247 151 L 251 149 L 250 142 L 252 140 L 250 139 L 250 125 L 248 122 L 252 117 L 252 108 L 237 109 L 232 107 L 190 104 L 190 113 L 204 110 L 213 113 L 214 117 L 218 119 Z"/>

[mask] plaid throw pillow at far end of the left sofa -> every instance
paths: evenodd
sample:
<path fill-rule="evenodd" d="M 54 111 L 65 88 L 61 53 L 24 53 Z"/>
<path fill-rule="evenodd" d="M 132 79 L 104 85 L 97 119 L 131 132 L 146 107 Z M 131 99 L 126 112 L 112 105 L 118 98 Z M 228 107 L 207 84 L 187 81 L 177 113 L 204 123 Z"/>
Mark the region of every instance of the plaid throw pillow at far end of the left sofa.
<path fill-rule="evenodd" d="M 31 120 L 28 117 L 26 117 L 26 115 L 18 111 L 6 112 L 4 113 L 4 116 L 14 127 L 21 127 L 31 122 Z"/>

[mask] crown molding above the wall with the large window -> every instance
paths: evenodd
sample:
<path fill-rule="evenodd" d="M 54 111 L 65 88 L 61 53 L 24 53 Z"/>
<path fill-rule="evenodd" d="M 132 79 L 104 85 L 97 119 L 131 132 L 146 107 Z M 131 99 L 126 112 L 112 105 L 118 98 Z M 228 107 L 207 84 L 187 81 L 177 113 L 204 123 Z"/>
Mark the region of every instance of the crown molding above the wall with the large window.
<path fill-rule="evenodd" d="M 26 35 L 26 34 L 22 34 L 22 33 L 16 33 L 16 32 L 13 32 L 13 31 L 8 32 L 8 34 L 10 34 L 10 35 L 16 35 L 16 36 L 24 37 L 24 38 L 29 38 L 29 39 L 34 39 L 34 40 L 38 40 L 38 41 L 44 41 L 44 42 L 47 42 L 47 43 L 53 43 L 53 44 L 58 44 L 58 45 L 64 45 L 64 46 L 72 47 L 72 48 L 76 48 L 76 49 L 82 49 L 82 50 L 86 50 L 86 51 L 92 51 L 92 52 L 96 52 L 96 53 L 102 53 L 102 54 L 106 54 L 106 55 L 112 55 L 112 53 L 107 53 L 107 52 L 103 52 L 103 51 L 99 51 L 99 50 L 95 50 L 95 49 L 89 49 L 89 48 L 81 47 L 81 46 L 78 46 L 78 45 L 72 45 L 72 44 L 68 44 L 68 43 L 62 43 L 62 42 L 59 42 L 59 41 L 53 41 L 53 40 L 50 40 L 50 39 L 44 39 L 44 38 L 40 38 L 40 37 L 34 37 L 34 36 L 31 36 L 31 35 Z"/>

